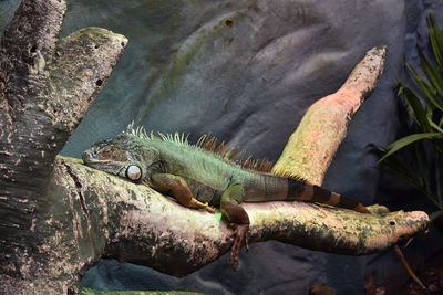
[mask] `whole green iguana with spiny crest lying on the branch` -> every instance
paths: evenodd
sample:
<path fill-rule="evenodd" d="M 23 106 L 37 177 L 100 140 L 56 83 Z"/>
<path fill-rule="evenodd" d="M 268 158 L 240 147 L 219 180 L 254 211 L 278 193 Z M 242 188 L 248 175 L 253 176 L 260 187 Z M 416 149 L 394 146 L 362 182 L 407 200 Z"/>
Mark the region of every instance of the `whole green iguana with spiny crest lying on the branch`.
<path fill-rule="evenodd" d="M 222 151 L 214 139 L 189 145 L 183 136 L 147 136 L 143 129 L 122 133 L 95 143 L 84 151 L 85 165 L 145 183 L 174 197 L 181 204 L 215 212 L 219 208 L 234 229 L 230 256 L 247 246 L 249 218 L 241 202 L 298 200 L 369 211 L 358 202 L 297 177 L 281 177 L 251 169 L 231 160 L 231 151 Z M 230 160 L 229 160 L 230 158 Z M 253 168 L 257 162 L 251 165 Z M 245 167 L 246 166 L 246 167 Z M 248 168 L 249 167 L 249 168 Z"/>

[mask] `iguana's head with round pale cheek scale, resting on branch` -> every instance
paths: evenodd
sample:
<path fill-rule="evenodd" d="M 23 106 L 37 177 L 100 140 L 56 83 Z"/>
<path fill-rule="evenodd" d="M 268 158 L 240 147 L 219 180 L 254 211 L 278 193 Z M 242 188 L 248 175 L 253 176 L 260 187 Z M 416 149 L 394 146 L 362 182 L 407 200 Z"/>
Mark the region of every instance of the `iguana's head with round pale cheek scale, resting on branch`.
<path fill-rule="evenodd" d="M 158 151 L 145 140 L 123 133 L 92 144 L 82 158 L 89 167 L 140 182 L 146 177 L 148 167 L 158 160 Z"/>

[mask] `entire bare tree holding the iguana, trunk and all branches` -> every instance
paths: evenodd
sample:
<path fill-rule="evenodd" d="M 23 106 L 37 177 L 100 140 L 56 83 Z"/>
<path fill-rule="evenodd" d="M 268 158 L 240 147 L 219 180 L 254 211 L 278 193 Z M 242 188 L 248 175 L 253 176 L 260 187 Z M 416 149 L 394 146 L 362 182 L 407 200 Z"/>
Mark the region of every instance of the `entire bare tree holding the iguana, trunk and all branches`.
<path fill-rule="evenodd" d="M 216 214 L 184 208 L 79 160 L 55 159 L 127 43 L 99 28 L 56 43 L 64 10 L 61 0 L 24 0 L 1 41 L 0 293 L 75 294 L 81 275 L 101 257 L 177 276 L 203 267 L 230 247 L 230 229 Z M 297 130 L 307 146 L 297 149 L 299 156 L 285 150 L 276 172 L 292 173 L 290 167 L 301 162 L 297 172 L 321 182 L 350 116 L 382 71 L 384 49 L 372 52 L 378 54 L 367 56 L 342 89 L 308 112 L 310 124 Z M 330 120 L 321 120 L 323 115 Z M 331 138 L 334 133 L 340 136 Z M 312 145 L 322 136 L 329 139 Z M 250 242 L 272 239 L 350 255 L 387 249 L 425 231 L 429 222 L 424 212 L 388 213 L 379 207 L 373 208 L 379 215 L 302 202 L 245 209 Z"/>

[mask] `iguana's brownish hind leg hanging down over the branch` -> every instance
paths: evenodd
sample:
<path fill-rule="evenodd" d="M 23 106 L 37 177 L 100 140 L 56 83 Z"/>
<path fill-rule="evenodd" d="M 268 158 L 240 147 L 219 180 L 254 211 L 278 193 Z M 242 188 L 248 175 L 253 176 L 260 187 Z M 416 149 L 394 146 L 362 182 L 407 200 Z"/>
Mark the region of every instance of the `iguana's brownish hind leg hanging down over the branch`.
<path fill-rule="evenodd" d="M 220 211 L 231 223 L 234 233 L 233 247 L 230 249 L 230 257 L 234 266 L 238 264 L 238 253 L 243 246 L 248 250 L 248 241 L 246 234 L 249 230 L 249 217 L 245 209 L 240 206 L 245 189 L 241 185 L 229 186 L 222 194 Z"/>

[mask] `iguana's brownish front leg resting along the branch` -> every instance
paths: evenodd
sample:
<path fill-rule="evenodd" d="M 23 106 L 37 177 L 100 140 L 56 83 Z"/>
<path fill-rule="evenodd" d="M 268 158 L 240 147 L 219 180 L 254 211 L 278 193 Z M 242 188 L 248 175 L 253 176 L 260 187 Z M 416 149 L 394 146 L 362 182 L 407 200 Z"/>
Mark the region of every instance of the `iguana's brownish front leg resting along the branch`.
<path fill-rule="evenodd" d="M 169 173 L 154 173 L 151 182 L 155 190 L 174 197 L 181 204 L 188 208 L 205 209 L 210 213 L 215 210 L 194 198 L 194 194 L 183 177 Z"/>

